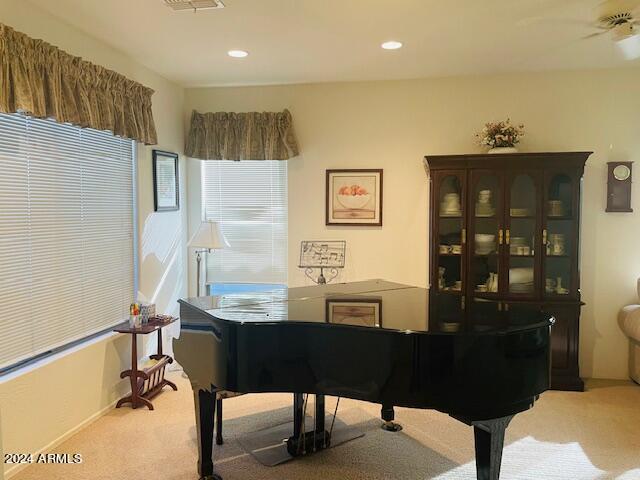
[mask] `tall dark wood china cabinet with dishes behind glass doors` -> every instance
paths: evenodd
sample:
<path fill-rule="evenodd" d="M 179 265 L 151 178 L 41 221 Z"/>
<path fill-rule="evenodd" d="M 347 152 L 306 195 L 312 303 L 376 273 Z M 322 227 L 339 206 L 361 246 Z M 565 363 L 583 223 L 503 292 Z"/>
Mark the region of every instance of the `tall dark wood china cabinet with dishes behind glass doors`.
<path fill-rule="evenodd" d="M 496 309 L 533 306 L 553 314 L 551 382 L 557 390 L 584 389 L 578 260 L 580 189 L 590 154 L 425 157 L 431 290 L 442 311 L 462 314 L 452 315 L 445 328 L 482 330 L 499 317 Z"/>

